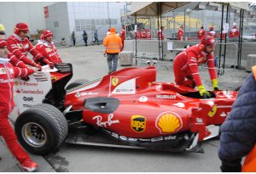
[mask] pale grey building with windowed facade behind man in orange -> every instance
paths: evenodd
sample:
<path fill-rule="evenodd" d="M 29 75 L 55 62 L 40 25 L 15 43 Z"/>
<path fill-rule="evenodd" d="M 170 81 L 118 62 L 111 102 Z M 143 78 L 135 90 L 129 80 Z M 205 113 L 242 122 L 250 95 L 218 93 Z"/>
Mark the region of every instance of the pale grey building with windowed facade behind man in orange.
<path fill-rule="evenodd" d="M 49 5 L 49 16 L 45 18 L 46 27 L 54 33 L 54 39 L 61 41 L 65 38 L 72 44 L 72 32 L 75 32 L 76 45 L 84 45 L 83 33 L 88 34 L 88 43 L 94 41 L 94 32 L 97 30 L 101 42 L 110 27 L 121 31 L 121 9 L 125 3 L 105 2 L 64 2 Z"/>

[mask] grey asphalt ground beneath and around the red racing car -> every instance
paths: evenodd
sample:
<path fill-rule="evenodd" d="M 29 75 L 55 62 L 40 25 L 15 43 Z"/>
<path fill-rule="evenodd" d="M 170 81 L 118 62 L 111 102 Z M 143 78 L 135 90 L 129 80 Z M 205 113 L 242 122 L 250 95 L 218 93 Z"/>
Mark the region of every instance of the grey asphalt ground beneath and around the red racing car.
<path fill-rule="evenodd" d="M 94 80 L 107 75 L 108 65 L 106 57 L 103 56 L 104 49 L 102 45 L 59 48 L 62 61 L 73 64 L 71 82 L 79 78 Z M 118 66 L 118 70 L 123 68 L 126 67 Z M 230 90 L 245 81 L 247 75 L 245 70 L 226 70 L 224 76 L 218 77 L 219 88 Z M 207 89 L 211 89 L 211 82 L 205 68 L 201 68 L 201 79 Z M 159 64 L 157 81 L 174 81 L 171 62 Z M 15 121 L 16 117 L 17 109 L 15 108 L 10 118 Z M 204 154 L 114 149 L 63 143 L 57 152 L 43 157 L 32 155 L 32 159 L 39 163 L 38 171 L 218 172 L 220 171 L 218 143 L 218 140 L 202 143 Z M 0 156 L 3 158 L 0 160 L 0 171 L 20 171 L 20 167 L 3 141 L 0 141 Z"/>

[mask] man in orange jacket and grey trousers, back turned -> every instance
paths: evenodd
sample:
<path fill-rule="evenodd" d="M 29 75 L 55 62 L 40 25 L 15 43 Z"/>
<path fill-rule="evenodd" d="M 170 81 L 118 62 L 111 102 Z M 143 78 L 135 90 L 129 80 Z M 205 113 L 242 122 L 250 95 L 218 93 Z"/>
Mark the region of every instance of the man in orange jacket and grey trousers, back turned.
<path fill-rule="evenodd" d="M 116 71 L 118 66 L 119 52 L 123 44 L 121 37 L 117 36 L 114 27 L 110 29 L 110 35 L 104 38 L 103 44 L 107 48 L 108 74 Z"/>

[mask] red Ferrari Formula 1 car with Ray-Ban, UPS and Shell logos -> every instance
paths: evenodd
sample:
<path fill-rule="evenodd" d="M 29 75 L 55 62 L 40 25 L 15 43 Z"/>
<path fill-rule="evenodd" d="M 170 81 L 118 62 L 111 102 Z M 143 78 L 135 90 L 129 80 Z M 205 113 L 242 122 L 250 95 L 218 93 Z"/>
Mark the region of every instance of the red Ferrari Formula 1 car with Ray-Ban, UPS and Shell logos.
<path fill-rule="evenodd" d="M 15 132 L 33 154 L 61 143 L 117 148 L 202 152 L 201 142 L 217 137 L 237 92 L 198 91 L 155 82 L 154 66 L 126 68 L 95 81 L 78 80 L 72 65 L 15 81 L 20 115 Z M 67 87 L 65 88 L 65 86 Z"/>

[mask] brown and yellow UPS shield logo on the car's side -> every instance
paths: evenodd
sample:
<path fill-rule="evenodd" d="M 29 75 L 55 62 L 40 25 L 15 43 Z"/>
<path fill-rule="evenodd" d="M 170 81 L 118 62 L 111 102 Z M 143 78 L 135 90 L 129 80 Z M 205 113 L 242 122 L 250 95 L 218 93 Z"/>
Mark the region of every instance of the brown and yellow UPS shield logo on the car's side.
<path fill-rule="evenodd" d="M 142 115 L 131 116 L 131 128 L 135 132 L 144 132 L 146 129 L 146 117 Z"/>

